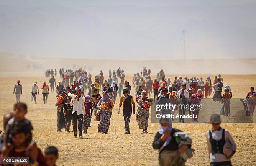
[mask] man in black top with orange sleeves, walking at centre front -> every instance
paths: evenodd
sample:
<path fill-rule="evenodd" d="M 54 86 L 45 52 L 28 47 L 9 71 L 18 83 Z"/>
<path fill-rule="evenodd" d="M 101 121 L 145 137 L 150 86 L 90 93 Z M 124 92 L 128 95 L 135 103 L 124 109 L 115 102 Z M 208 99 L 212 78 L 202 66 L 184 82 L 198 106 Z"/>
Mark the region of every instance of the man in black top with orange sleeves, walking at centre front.
<path fill-rule="evenodd" d="M 132 113 L 132 104 L 133 104 L 133 115 L 135 114 L 135 103 L 133 97 L 128 94 L 127 89 L 123 89 L 123 96 L 120 98 L 118 114 L 120 114 L 120 108 L 123 104 L 123 118 L 125 121 L 125 134 L 130 134 L 130 119 Z"/>

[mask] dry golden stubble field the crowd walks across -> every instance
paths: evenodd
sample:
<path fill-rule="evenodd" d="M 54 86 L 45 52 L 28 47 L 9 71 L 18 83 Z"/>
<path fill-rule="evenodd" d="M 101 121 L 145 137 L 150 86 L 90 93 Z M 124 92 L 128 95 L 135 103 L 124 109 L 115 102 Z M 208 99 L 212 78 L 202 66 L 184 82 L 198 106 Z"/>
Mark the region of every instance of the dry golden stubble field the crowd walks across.
<path fill-rule="evenodd" d="M 173 81 L 173 75 L 168 77 L 171 77 Z M 203 77 L 206 78 L 206 76 Z M 211 78 L 213 77 L 211 75 Z M 230 84 L 234 98 L 245 97 L 249 92 L 249 87 L 256 87 L 256 75 L 223 75 L 222 77 L 224 82 Z M 88 129 L 89 134 L 83 134 L 85 139 L 76 139 L 73 137 L 73 133 L 66 133 L 63 129 L 63 132 L 56 132 L 57 113 L 54 106 L 56 93 L 50 93 L 47 104 L 43 104 L 41 92 L 38 96 L 38 104 L 30 101 L 33 82 L 37 81 L 38 85 L 41 85 L 43 81 L 48 82 L 43 73 L 37 77 L 28 74 L 11 74 L 9 77 L 7 74 L 0 75 L 1 117 L 13 109 L 15 102 L 13 87 L 17 79 L 20 79 L 20 84 L 23 86 L 21 101 L 28 104 L 27 118 L 31 120 L 34 127 L 33 139 L 36 140 L 42 151 L 50 145 L 59 148 L 57 165 L 156 165 L 158 152 L 152 149 L 151 144 L 157 129 L 159 129 L 159 124 L 151 124 L 149 121 L 149 133 L 141 134 L 141 129 L 138 129 L 133 115 L 130 122 L 131 134 L 124 134 L 123 116 L 118 114 L 118 104 L 115 104 L 113 109 L 108 134 L 98 134 L 95 121 L 92 121 L 92 127 Z M 56 80 L 58 81 L 58 79 L 59 77 Z M 126 77 L 126 79 L 130 82 L 132 80 L 131 77 Z M 117 101 L 119 101 L 119 97 Z M 0 126 L 2 129 L 2 121 Z M 174 124 L 173 126 L 188 132 L 192 137 L 195 156 L 189 159 L 186 165 L 209 165 L 205 132 L 210 129 L 210 125 Z M 222 124 L 222 126 L 230 131 L 237 144 L 237 152 L 232 158 L 233 165 L 256 165 L 255 124 Z"/>

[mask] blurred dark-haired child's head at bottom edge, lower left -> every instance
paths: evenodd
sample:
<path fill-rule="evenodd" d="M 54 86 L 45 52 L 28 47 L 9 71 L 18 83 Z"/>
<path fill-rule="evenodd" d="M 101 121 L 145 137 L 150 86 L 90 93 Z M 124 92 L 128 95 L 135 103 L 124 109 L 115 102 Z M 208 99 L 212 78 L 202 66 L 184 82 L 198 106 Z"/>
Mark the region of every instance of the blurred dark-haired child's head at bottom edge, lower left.
<path fill-rule="evenodd" d="M 58 149 L 55 146 L 48 146 L 45 150 L 45 158 L 49 166 L 56 166 L 56 161 L 59 158 Z"/>

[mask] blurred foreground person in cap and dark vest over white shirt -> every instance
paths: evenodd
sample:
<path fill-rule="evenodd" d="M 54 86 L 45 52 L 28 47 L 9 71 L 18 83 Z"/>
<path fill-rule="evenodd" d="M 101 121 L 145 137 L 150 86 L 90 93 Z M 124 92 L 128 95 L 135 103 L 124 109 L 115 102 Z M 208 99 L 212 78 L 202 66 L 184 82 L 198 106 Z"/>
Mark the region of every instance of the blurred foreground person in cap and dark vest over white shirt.
<path fill-rule="evenodd" d="M 220 115 L 210 117 L 212 129 L 206 132 L 211 166 L 232 166 L 230 158 L 236 152 L 236 144 L 228 130 L 220 127 Z"/>

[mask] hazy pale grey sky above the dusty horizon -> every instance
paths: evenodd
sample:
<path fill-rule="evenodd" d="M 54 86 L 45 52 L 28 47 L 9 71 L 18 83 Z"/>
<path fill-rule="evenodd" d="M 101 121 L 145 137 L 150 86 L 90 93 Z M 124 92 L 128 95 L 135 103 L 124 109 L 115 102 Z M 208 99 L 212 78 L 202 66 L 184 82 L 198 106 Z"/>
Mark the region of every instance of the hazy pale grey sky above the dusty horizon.
<path fill-rule="evenodd" d="M 3 0 L 0 52 L 89 59 L 256 57 L 256 0 Z"/>

